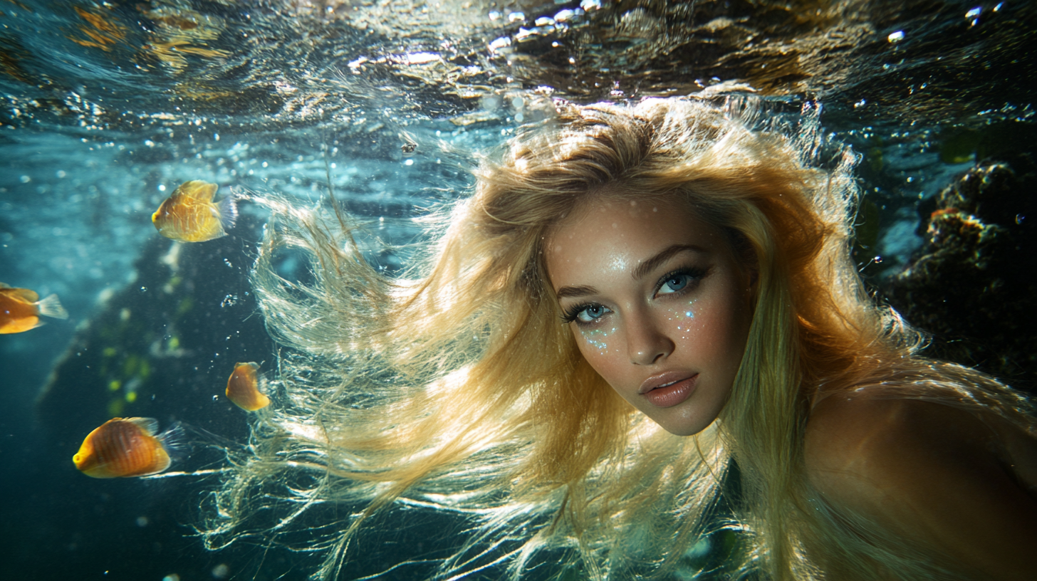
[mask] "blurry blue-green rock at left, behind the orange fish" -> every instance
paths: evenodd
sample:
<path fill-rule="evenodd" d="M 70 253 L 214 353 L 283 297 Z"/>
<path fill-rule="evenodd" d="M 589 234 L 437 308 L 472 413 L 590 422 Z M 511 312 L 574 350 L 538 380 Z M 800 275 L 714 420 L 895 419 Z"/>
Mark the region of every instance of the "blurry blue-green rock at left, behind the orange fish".
<path fill-rule="evenodd" d="M 235 361 L 273 358 L 248 282 L 255 241 L 240 232 L 257 229 L 248 222 L 205 243 L 148 241 L 134 282 L 77 330 L 40 392 L 49 436 L 81 440 L 114 416 L 245 434 L 244 417 L 222 395 L 226 378 Z"/>

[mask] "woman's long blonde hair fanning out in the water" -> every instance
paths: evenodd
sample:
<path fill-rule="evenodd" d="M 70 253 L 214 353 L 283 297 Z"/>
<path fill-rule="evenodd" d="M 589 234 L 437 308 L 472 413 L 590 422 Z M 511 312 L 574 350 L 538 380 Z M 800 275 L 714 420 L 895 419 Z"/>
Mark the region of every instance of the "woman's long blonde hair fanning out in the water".
<path fill-rule="evenodd" d="M 469 529 L 437 578 L 487 566 L 517 578 L 541 552 L 591 579 L 651 576 L 719 526 L 748 533 L 734 569 L 776 580 L 852 572 L 844 558 L 910 561 L 895 547 L 862 554 L 877 543 L 861 541 L 866 519 L 849 526 L 817 507 L 802 450 L 811 400 L 897 376 L 913 378 L 903 396 L 1029 416 L 992 380 L 917 359 L 920 337 L 868 298 L 849 257 L 854 158 L 824 142 L 817 109 L 788 118 L 746 100 L 671 99 L 556 113 L 480 166 L 474 194 L 398 278 L 369 265 L 370 239 L 336 205 L 329 219 L 258 199 L 274 210 L 253 284 L 282 350 L 279 392 L 211 495 L 207 545 L 324 552 L 315 576 L 333 578 L 365 526 L 409 507 Z M 742 363 L 698 435 L 635 412 L 560 322 L 544 237 L 606 187 L 685 200 L 753 261 Z M 276 274 L 284 249 L 311 256 L 312 283 Z M 734 465 L 740 494 L 724 521 L 718 497 Z M 314 515 L 331 504 L 347 515 Z"/>

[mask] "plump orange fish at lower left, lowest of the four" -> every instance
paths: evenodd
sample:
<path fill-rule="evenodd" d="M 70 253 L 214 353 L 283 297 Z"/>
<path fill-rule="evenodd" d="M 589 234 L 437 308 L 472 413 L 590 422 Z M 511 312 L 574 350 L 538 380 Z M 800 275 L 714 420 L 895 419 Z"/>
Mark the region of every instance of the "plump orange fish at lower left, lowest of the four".
<path fill-rule="evenodd" d="M 180 430 L 156 435 L 158 428 L 153 418 L 112 418 L 86 436 L 72 461 L 94 478 L 157 474 L 169 468 L 166 445 Z"/>

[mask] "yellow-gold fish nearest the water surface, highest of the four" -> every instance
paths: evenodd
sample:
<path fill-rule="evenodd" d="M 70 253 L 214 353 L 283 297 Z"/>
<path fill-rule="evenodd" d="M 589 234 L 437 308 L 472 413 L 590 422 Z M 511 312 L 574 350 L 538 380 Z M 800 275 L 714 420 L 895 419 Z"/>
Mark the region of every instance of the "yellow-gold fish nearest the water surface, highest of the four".
<path fill-rule="evenodd" d="M 234 196 L 213 203 L 216 184 L 194 179 L 180 184 L 151 215 L 159 233 L 180 242 L 205 242 L 227 236 L 237 220 Z"/>

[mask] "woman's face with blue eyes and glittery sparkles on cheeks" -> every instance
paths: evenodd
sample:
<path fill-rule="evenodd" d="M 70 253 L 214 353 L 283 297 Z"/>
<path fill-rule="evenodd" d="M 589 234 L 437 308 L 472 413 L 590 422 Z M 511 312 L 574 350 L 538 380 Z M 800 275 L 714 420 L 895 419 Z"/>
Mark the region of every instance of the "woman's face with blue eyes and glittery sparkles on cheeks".
<path fill-rule="evenodd" d="M 727 402 L 752 321 L 750 269 L 686 204 L 594 199 L 546 240 L 577 344 L 665 430 L 704 430 Z"/>

